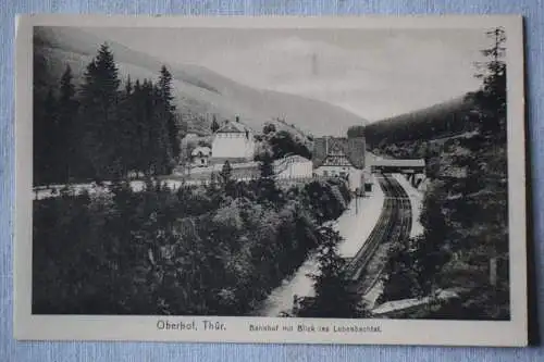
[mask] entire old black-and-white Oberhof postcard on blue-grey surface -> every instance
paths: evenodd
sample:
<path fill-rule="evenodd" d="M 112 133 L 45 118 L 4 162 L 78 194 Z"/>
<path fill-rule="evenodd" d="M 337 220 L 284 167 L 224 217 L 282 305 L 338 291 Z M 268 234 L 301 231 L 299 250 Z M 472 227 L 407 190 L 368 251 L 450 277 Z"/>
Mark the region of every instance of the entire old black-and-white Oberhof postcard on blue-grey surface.
<path fill-rule="evenodd" d="M 18 339 L 524 346 L 520 16 L 24 15 Z"/>

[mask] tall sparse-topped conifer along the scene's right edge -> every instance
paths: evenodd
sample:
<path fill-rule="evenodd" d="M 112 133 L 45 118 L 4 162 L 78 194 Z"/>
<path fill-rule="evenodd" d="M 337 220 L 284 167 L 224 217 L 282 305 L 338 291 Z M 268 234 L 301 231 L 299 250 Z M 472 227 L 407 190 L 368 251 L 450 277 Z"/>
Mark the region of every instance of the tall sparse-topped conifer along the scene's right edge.
<path fill-rule="evenodd" d="M 483 70 L 475 76 L 482 79 L 482 86 L 472 95 L 475 109 L 480 115 L 481 133 L 485 140 L 483 147 L 474 150 L 473 162 L 468 167 L 468 182 L 472 187 L 487 189 L 494 192 L 492 199 L 479 200 L 474 215 L 487 225 L 482 250 L 489 258 L 490 283 L 495 284 L 497 260 L 508 260 L 507 237 L 507 157 L 506 157 L 506 123 L 507 123 L 507 68 L 504 61 L 506 52 L 506 33 L 497 27 L 486 33 L 492 45 L 482 50 L 487 58 Z M 494 210 L 492 212 L 491 210 Z M 507 267 L 504 267 L 507 271 Z M 507 274 L 507 272 L 505 273 Z M 506 280 L 508 276 L 504 277 Z M 508 294 L 508 283 L 505 284 Z M 495 297 L 490 297 L 492 302 Z"/>

